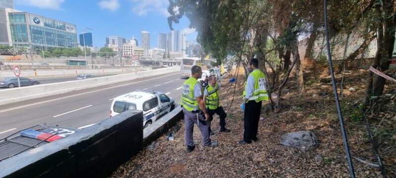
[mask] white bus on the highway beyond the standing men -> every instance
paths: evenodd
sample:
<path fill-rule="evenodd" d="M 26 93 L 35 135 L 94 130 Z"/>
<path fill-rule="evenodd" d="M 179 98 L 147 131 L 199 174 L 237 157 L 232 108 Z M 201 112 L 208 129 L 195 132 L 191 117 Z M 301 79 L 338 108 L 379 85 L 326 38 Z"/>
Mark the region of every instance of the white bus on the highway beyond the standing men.
<path fill-rule="evenodd" d="M 209 69 L 209 62 L 208 59 L 201 60 L 198 57 L 183 57 L 180 63 L 180 75 L 182 77 L 191 77 L 191 68 L 194 65 L 198 65 L 202 68 L 202 70 Z"/>

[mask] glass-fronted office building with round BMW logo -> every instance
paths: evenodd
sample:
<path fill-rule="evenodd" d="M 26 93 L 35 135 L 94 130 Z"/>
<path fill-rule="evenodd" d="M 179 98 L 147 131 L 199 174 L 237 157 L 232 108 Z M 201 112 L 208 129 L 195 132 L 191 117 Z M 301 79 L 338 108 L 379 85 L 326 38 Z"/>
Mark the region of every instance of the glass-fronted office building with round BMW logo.
<path fill-rule="evenodd" d="M 78 45 L 76 25 L 12 8 L 0 8 L 0 42 L 28 42 L 38 51 Z"/>

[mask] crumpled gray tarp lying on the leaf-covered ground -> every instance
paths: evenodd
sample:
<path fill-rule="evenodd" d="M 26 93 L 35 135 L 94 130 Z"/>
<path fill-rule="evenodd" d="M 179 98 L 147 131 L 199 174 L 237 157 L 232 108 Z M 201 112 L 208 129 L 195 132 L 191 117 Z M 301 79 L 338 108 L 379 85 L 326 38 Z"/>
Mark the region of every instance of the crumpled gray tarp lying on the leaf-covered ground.
<path fill-rule="evenodd" d="M 307 151 L 316 146 L 318 137 L 312 131 L 298 131 L 281 135 L 281 144 Z"/>

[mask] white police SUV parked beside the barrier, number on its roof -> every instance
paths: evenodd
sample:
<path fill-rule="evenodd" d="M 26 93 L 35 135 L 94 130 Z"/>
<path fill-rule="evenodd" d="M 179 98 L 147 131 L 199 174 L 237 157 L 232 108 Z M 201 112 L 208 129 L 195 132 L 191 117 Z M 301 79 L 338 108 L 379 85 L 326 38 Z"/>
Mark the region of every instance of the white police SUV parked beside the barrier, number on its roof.
<path fill-rule="evenodd" d="M 147 128 L 175 108 L 175 100 L 158 91 L 136 90 L 113 99 L 110 117 L 127 110 L 143 111 L 143 126 Z"/>

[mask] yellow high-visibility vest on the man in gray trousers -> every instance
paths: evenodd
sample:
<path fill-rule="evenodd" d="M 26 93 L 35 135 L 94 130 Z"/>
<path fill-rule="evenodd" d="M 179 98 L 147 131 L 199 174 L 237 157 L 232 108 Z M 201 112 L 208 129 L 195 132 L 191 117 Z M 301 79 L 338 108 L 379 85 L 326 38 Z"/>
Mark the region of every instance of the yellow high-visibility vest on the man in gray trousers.
<path fill-rule="evenodd" d="M 187 111 L 198 110 L 198 101 L 194 97 L 194 87 L 199 83 L 194 77 L 190 77 L 183 84 L 182 96 L 180 98 L 180 104 L 186 108 Z"/>

